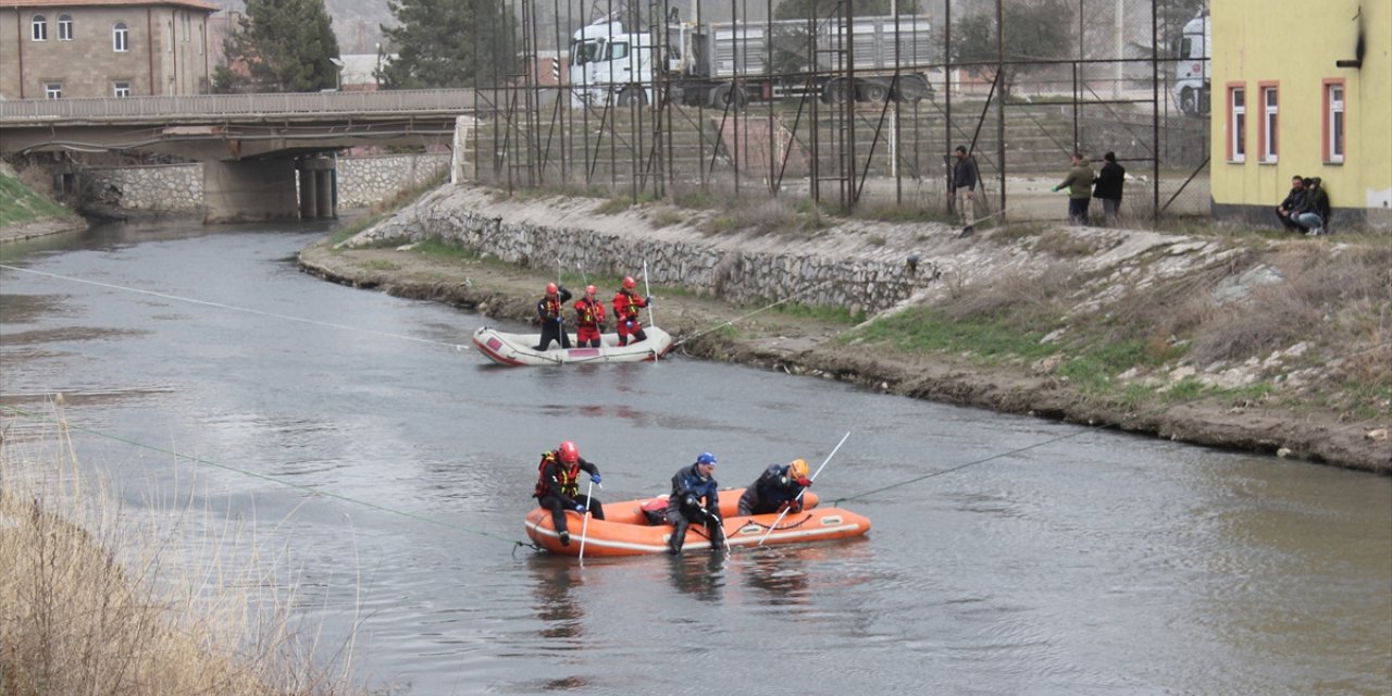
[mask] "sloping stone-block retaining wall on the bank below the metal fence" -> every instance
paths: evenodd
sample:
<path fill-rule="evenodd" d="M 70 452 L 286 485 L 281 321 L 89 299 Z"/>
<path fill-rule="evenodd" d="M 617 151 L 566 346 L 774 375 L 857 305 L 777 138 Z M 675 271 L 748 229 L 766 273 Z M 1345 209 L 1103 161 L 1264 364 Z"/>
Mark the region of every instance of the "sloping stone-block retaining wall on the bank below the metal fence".
<path fill-rule="evenodd" d="M 582 270 L 633 276 L 640 290 L 646 262 L 653 285 L 734 302 L 792 299 L 866 312 L 891 308 L 938 277 L 931 260 L 909 264 L 902 251 L 885 244 L 891 226 L 866 223 L 859 231 L 844 231 L 845 241 L 835 245 L 777 234 L 710 237 L 683 224 L 654 228 L 640 209 L 594 214 L 597 203 L 498 202 L 482 189 L 445 185 L 348 244 L 440 238 L 508 263 L 558 269 L 568 277 Z M 913 234 L 915 226 L 894 227 Z M 947 226 L 937 227 L 947 231 Z"/>

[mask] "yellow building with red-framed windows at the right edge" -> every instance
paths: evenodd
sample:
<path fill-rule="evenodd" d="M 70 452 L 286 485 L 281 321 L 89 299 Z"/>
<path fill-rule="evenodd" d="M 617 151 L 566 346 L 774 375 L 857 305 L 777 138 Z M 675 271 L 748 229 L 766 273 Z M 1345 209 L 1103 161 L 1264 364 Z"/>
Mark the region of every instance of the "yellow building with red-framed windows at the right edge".
<path fill-rule="evenodd" d="M 1392 231 L 1392 0 L 1211 4 L 1214 216 L 1275 226 L 1320 177 L 1334 230 Z"/>

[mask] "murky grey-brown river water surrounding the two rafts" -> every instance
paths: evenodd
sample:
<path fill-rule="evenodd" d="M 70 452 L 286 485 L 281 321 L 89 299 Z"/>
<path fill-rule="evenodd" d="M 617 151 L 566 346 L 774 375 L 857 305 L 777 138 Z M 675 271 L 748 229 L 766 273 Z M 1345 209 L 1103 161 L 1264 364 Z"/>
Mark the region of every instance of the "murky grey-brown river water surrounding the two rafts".
<path fill-rule="evenodd" d="M 50 426 L 13 408 L 64 393 L 129 515 L 192 496 L 283 547 L 298 615 L 333 646 L 356 625 L 370 685 L 1392 690 L 1389 477 L 690 359 L 496 367 L 459 348 L 483 316 L 299 273 L 323 234 L 111 226 L 4 249 L 24 270 L 0 270 L 0 400 L 18 437 Z M 729 486 L 816 466 L 846 432 L 816 490 L 873 521 L 863 539 L 583 568 L 516 546 L 561 438 L 624 500 L 706 450 Z"/>

